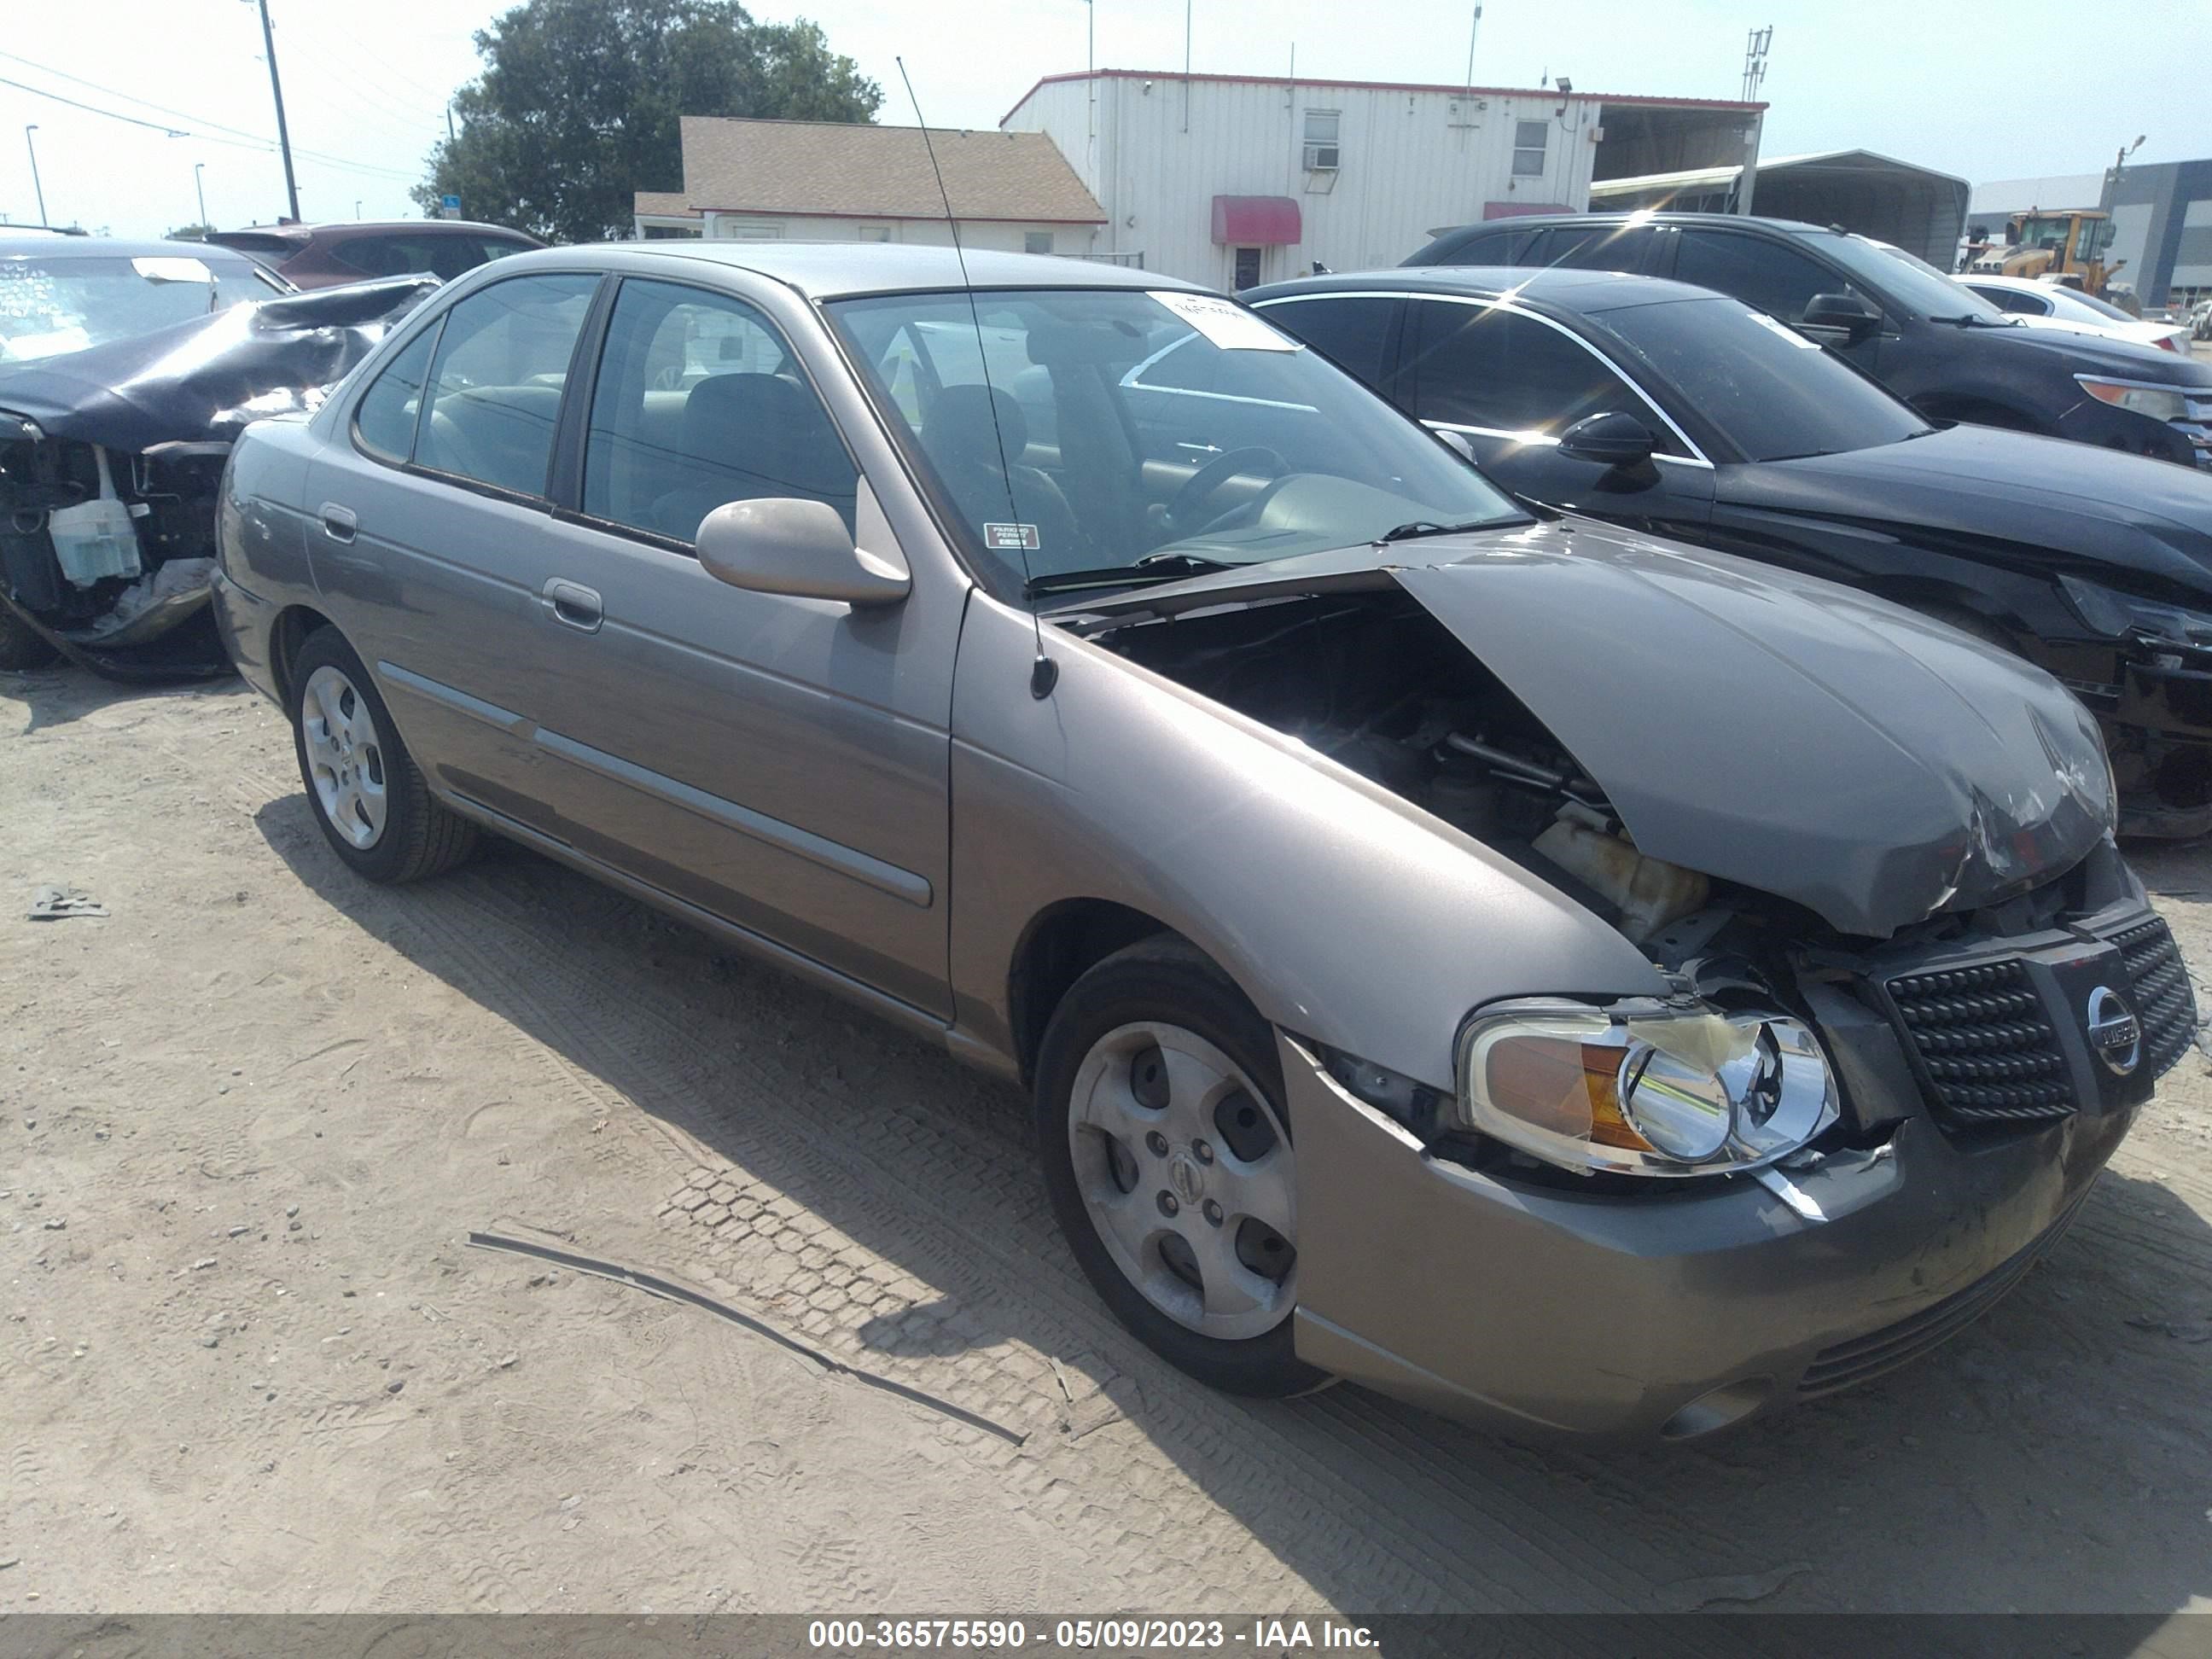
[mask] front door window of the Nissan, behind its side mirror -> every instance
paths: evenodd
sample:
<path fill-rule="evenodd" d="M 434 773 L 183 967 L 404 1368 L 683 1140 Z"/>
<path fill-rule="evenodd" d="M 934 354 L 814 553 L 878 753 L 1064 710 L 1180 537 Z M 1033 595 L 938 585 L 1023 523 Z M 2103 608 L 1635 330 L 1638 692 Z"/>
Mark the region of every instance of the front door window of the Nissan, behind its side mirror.
<path fill-rule="evenodd" d="M 624 281 L 584 438 L 584 511 L 677 542 L 717 507 L 827 502 L 852 529 L 858 471 L 759 310 L 679 283 Z"/>

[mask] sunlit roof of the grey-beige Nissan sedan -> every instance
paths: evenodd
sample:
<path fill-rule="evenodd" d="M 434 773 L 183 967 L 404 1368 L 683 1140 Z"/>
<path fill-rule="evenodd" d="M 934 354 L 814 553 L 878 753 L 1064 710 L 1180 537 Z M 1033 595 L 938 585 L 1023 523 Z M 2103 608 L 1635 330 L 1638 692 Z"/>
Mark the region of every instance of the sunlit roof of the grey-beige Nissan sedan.
<path fill-rule="evenodd" d="M 1164 276 L 1157 270 L 1130 270 L 1051 254 L 1002 254 L 989 248 L 969 248 L 962 268 L 960 254 L 951 248 L 889 241 L 606 241 L 586 248 L 553 248 L 546 254 L 515 254 L 513 259 L 575 259 L 577 254 L 648 254 L 697 265 L 728 265 L 787 283 L 810 299 L 947 288 L 1179 288 L 1206 292 L 1197 283 Z M 502 259 L 500 265 L 515 270 L 509 259 Z"/>

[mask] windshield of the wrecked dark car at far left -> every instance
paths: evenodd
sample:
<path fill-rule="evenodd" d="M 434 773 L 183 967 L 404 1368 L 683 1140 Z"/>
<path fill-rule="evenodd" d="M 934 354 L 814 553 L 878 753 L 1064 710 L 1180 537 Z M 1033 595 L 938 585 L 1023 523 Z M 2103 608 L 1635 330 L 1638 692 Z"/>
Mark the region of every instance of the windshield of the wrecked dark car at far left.
<path fill-rule="evenodd" d="M 252 261 L 197 254 L 11 254 L 0 259 L 0 363 L 150 334 L 283 288 Z"/>

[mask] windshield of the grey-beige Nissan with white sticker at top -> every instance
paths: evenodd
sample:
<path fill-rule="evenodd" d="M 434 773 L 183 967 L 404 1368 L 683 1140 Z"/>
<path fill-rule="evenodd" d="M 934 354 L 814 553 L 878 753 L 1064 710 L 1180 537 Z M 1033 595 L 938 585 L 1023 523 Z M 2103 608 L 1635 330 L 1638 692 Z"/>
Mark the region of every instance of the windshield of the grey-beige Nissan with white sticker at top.
<path fill-rule="evenodd" d="M 1035 290 L 980 292 L 975 307 L 958 292 L 891 294 L 830 314 L 975 568 L 1004 591 L 1522 518 L 1374 392 L 1230 301 Z"/>

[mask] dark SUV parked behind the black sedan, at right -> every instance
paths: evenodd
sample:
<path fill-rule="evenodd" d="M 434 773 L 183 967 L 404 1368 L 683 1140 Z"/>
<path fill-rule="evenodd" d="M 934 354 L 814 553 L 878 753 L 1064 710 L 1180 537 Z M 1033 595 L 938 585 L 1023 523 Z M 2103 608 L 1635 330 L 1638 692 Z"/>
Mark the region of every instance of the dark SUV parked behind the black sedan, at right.
<path fill-rule="evenodd" d="M 1444 230 L 1405 263 L 1672 276 L 1790 323 L 1931 420 L 2212 467 L 2212 367 L 2024 327 L 1933 265 L 1847 230 L 1710 212 L 1500 219 Z"/>

